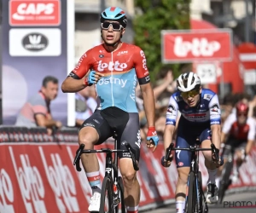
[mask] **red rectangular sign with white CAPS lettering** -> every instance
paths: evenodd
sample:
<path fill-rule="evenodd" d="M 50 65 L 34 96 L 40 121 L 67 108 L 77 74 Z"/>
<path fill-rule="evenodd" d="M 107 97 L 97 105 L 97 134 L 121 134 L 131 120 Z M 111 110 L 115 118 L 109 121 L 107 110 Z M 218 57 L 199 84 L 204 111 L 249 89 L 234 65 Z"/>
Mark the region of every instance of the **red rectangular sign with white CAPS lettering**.
<path fill-rule="evenodd" d="M 10 0 L 10 26 L 59 26 L 60 0 Z"/>

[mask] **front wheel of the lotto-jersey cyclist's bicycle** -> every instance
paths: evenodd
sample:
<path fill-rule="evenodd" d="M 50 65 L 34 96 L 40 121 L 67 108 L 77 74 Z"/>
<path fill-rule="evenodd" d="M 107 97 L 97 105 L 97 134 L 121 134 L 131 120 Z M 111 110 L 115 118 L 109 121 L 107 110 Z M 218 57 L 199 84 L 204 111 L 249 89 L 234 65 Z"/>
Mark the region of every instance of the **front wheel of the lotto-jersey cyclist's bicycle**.
<path fill-rule="evenodd" d="M 113 212 L 113 181 L 111 177 L 105 176 L 102 182 L 101 207 L 99 213 Z"/>

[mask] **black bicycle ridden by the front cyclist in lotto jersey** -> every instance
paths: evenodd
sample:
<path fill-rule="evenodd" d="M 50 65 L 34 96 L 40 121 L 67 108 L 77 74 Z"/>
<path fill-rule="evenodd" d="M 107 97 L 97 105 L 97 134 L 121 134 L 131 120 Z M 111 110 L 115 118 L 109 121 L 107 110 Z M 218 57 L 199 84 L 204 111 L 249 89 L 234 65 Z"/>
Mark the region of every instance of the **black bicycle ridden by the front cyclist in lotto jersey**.
<path fill-rule="evenodd" d="M 124 201 L 124 185 L 123 179 L 118 174 L 118 153 L 130 153 L 131 160 L 134 170 L 139 170 L 136 159 L 135 151 L 127 141 L 123 141 L 127 150 L 118 150 L 117 149 L 117 135 L 113 136 L 114 138 L 114 149 L 102 148 L 96 150 L 84 150 L 84 144 L 79 146 L 79 149 L 76 152 L 76 156 L 73 161 L 73 165 L 76 165 L 76 170 L 81 171 L 79 162 L 80 156 L 82 153 L 107 153 L 106 154 L 106 167 L 105 167 L 105 176 L 102 181 L 102 193 L 101 193 L 101 205 L 99 213 L 118 213 L 119 207 L 122 213 L 125 213 L 125 201 Z M 112 157 L 114 153 L 114 159 Z M 113 171 L 113 172 L 112 172 Z M 107 211 L 105 211 L 105 199 L 106 195 L 108 196 Z M 119 206 L 120 204 L 120 206 Z"/>

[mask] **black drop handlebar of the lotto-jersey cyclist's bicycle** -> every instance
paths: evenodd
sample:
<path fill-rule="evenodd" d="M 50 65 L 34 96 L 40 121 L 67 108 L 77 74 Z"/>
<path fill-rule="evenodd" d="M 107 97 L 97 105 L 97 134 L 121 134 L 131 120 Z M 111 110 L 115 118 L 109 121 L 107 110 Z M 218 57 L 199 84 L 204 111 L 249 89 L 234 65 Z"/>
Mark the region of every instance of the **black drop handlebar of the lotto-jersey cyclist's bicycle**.
<path fill-rule="evenodd" d="M 127 150 L 121 150 L 121 149 L 109 149 L 109 148 L 101 148 L 101 149 L 87 149 L 84 150 L 84 144 L 80 144 L 79 149 L 76 152 L 76 156 L 73 161 L 73 165 L 76 165 L 76 170 L 81 171 L 80 167 L 80 159 L 82 153 L 130 153 L 131 154 L 131 160 L 134 170 L 139 170 L 139 167 L 137 165 L 136 159 L 134 157 L 134 149 L 131 147 L 131 145 L 127 142 L 123 142 Z"/>

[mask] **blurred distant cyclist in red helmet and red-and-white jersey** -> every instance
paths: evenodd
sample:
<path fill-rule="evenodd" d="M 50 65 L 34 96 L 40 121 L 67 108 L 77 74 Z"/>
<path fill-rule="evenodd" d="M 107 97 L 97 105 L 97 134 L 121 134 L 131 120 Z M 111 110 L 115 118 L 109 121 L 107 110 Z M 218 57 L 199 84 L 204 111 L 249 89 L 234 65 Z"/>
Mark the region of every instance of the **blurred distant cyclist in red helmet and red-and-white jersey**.
<path fill-rule="evenodd" d="M 236 117 L 227 119 L 224 122 L 221 139 L 224 143 L 224 164 L 227 162 L 230 152 L 236 154 L 236 175 L 241 164 L 250 153 L 255 140 L 255 121 L 248 118 L 249 107 L 244 102 L 236 104 Z M 224 166 L 219 167 L 218 174 L 221 174 Z"/>

